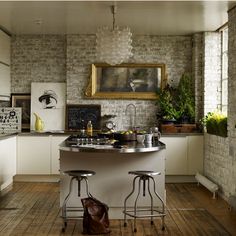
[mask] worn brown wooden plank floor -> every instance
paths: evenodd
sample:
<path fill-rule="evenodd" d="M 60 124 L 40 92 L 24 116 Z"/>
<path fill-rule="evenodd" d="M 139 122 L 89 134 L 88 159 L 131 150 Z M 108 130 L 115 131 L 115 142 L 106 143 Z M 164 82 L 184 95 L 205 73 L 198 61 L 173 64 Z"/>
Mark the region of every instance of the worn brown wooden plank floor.
<path fill-rule="evenodd" d="M 110 236 L 155 235 L 236 235 L 236 212 L 229 211 L 225 201 L 213 200 L 209 191 L 197 184 L 167 184 L 166 230 L 160 219 L 151 226 L 138 220 L 137 233 L 133 222 L 123 227 L 122 220 L 111 220 Z M 70 221 L 61 233 L 58 183 L 14 183 L 0 196 L 0 235 L 79 235 L 82 221 Z"/>

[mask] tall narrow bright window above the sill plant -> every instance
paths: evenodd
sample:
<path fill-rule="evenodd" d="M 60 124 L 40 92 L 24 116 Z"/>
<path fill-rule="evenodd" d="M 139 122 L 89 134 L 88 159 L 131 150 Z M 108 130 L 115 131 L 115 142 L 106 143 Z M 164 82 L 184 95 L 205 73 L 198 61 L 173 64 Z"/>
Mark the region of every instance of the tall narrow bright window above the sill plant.
<path fill-rule="evenodd" d="M 221 73 L 221 111 L 227 115 L 228 108 L 228 26 L 221 29 L 222 73 Z"/>

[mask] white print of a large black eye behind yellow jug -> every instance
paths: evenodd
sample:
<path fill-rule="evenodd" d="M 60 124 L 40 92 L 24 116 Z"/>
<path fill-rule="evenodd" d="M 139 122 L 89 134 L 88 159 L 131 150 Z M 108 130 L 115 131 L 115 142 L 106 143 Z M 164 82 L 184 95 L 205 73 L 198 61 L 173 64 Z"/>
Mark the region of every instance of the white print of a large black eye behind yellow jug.
<path fill-rule="evenodd" d="M 43 131 L 64 130 L 65 104 L 65 83 L 32 83 L 30 129 L 35 130 L 35 113 L 44 123 Z"/>

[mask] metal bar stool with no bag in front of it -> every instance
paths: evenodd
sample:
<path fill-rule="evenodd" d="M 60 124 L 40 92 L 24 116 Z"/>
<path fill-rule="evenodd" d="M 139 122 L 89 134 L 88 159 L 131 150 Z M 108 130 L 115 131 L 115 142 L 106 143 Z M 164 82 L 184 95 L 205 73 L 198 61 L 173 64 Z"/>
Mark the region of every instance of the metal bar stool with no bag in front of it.
<path fill-rule="evenodd" d="M 161 198 L 161 196 L 156 192 L 156 186 L 155 186 L 155 180 L 152 176 L 155 175 L 160 175 L 160 172 L 154 172 L 154 171 L 129 171 L 128 174 L 131 175 L 135 175 L 134 179 L 133 179 L 133 189 L 131 191 L 131 193 L 125 198 L 125 202 L 124 202 L 124 227 L 127 226 L 127 222 L 126 222 L 126 216 L 130 216 L 134 218 L 134 232 L 137 232 L 137 228 L 136 228 L 136 219 L 137 218 L 149 218 L 151 219 L 151 224 L 153 224 L 153 217 L 161 217 L 161 222 L 162 222 L 162 230 L 165 229 L 165 222 L 164 222 L 164 217 L 165 217 L 165 204 L 163 199 Z M 127 200 L 131 197 L 131 195 L 135 192 L 135 183 L 136 180 L 138 180 L 138 194 L 135 198 L 135 202 L 134 202 L 134 207 L 132 210 L 127 210 Z M 155 196 L 160 200 L 161 202 L 161 210 L 158 209 L 154 209 L 153 206 L 153 196 L 152 193 L 150 191 L 150 180 L 152 180 L 153 183 L 153 192 L 155 194 Z M 146 195 L 146 181 L 147 181 L 147 188 L 148 188 L 148 193 L 149 196 L 151 198 L 151 206 L 148 208 L 140 208 L 137 209 L 137 202 L 138 202 L 138 198 L 140 195 L 140 191 L 141 191 L 141 183 L 143 184 L 143 197 L 145 197 Z M 150 214 L 138 214 L 139 212 L 150 212 Z"/>

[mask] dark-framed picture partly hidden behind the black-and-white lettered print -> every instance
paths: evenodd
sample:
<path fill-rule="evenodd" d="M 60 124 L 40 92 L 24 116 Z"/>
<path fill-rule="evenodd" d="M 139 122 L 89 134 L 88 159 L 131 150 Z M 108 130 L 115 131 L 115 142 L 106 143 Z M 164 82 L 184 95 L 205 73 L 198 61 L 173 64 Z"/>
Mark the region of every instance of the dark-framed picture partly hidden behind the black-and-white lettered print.
<path fill-rule="evenodd" d="M 12 93 L 11 94 L 11 106 L 21 107 L 22 118 L 21 128 L 22 130 L 30 130 L 30 106 L 31 96 L 29 93 Z"/>

